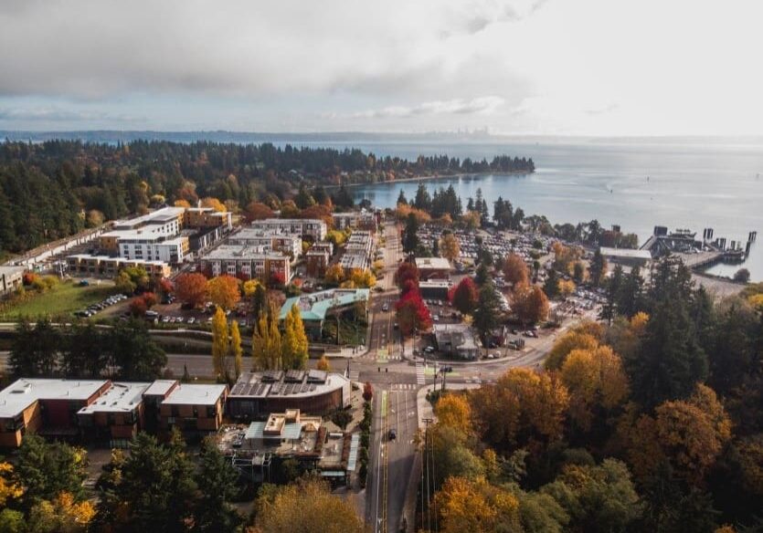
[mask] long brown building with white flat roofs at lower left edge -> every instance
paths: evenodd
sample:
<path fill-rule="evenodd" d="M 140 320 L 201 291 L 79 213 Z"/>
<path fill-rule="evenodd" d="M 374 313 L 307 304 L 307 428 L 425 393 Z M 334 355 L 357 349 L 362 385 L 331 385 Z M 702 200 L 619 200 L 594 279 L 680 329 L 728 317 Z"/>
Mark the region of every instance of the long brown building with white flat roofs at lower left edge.
<path fill-rule="evenodd" d="M 194 438 L 222 425 L 227 385 L 26 379 L 0 391 L 0 447 L 29 432 L 124 446 L 138 431 Z"/>

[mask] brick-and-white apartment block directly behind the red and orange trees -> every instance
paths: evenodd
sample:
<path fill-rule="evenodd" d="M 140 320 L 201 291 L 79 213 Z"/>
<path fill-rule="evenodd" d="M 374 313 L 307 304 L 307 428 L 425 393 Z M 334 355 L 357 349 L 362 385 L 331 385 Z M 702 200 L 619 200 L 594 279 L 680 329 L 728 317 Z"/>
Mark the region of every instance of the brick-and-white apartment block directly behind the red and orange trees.
<path fill-rule="evenodd" d="M 274 276 L 291 280 L 291 257 L 268 253 L 263 248 L 245 245 L 221 245 L 199 260 L 201 271 L 207 276 L 228 276 L 250 279 L 259 278 L 268 283 Z"/>

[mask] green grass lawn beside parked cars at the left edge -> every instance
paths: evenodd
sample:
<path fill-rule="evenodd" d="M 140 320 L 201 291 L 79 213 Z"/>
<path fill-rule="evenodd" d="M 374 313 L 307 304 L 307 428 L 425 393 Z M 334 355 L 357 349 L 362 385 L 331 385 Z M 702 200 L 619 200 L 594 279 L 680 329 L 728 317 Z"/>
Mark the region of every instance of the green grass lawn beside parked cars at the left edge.
<path fill-rule="evenodd" d="M 77 281 L 60 283 L 47 292 L 34 294 L 24 301 L 7 303 L 0 313 L 0 320 L 15 320 L 23 316 L 70 316 L 74 311 L 100 302 L 115 292 L 113 284 L 108 281 L 101 282 L 100 286 L 91 283 L 89 287 L 79 287 Z"/>

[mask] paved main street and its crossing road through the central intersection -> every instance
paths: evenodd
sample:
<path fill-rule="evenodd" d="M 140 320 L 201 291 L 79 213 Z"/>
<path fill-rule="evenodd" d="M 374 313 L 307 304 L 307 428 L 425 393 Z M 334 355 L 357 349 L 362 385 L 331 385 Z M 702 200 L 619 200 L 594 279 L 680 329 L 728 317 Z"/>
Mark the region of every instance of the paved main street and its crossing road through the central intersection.
<path fill-rule="evenodd" d="M 376 389 L 366 484 L 366 524 L 374 524 L 375 533 L 399 531 L 404 515 L 408 525 L 413 524 L 413 509 L 410 505 L 406 507 L 406 503 L 415 503 L 416 479 L 420 476 L 415 461 L 417 450 L 413 444 L 419 425 L 416 397 L 419 389 L 424 384 L 430 385 L 437 376 L 437 363 L 402 358 L 399 333 L 394 328 L 397 287 L 393 280 L 402 250 L 397 227 L 392 224 L 383 227 L 387 242 L 384 277 L 379 280 L 379 285 L 384 290 L 375 292 L 371 302 L 368 350 L 348 360 L 350 378 L 370 381 Z M 564 329 L 571 325 L 567 324 Z M 510 350 L 508 357 L 500 360 L 449 362 L 453 372 L 448 374 L 447 381 L 456 387 L 476 386 L 495 381 L 508 368 L 538 366 L 556 335 L 528 340 L 527 349 Z M 195 377 L 213 375 L 212 359 L 208 355 L 170 354 L 167 359 L 167 368 L 176 377 L 182 376 L 185 369 Z M 0 367 L 5 368 L 6 361 L 7 352 L 0 352 Z M 315 363 L 310 361 L 311 366 Z M 345 364 L 337 361 L 334 369 L 342 371 Z M 391 441 L 388 439 L 390 430 L 397 434 Z"/>

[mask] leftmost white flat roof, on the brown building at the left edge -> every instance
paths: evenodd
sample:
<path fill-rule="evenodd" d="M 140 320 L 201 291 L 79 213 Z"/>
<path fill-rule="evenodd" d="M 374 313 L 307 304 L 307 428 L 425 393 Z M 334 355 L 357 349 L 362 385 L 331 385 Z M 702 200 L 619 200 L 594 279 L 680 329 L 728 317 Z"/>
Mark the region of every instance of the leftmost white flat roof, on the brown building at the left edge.
<path fill-rule="evenodd" d="M 0 418 L 12 418 L 37 400 L 87 400 L 107 382 L 21 378 L 0 391 Z"/>

